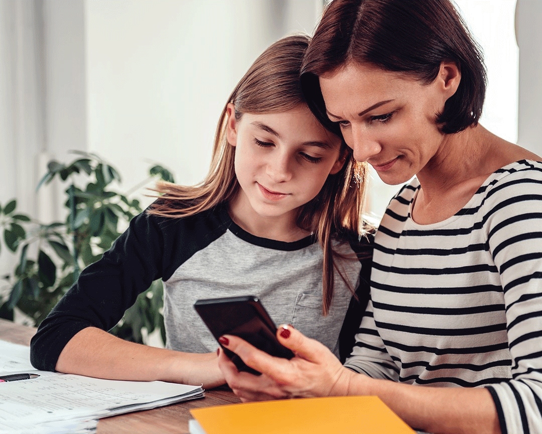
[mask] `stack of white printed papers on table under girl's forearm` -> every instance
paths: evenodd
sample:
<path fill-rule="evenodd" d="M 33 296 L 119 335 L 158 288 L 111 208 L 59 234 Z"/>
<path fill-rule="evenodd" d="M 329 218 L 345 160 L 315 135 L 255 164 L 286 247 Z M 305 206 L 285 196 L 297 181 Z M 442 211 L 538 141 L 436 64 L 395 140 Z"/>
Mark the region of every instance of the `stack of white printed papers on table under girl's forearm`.
<path fill-rule="evenodd" d="M 40 375 L 0 384 L 0 434 L 90 433 L 99 418 L 203 397 L 199 386 L 36 371 L 28 360 L 28 347 L 0 341 L 0 375 Z"/>

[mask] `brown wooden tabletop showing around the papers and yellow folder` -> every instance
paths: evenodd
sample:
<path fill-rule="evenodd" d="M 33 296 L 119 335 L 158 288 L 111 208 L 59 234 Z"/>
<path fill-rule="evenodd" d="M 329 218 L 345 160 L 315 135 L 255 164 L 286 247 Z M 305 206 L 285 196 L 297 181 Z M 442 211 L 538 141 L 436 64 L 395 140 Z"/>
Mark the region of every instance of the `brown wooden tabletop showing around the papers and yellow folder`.
<path fill-rule="evenodd" d="M 0 339 L 4 341 L 30 345 L 35 333 L 34 327 L 0 319 Z M 190 409 L 239 402 L 231 391 L 217 388 L 206 391 L 203 399 L 100 419 L 98 434 L 186 434 L 188 420 L 191 419 Z"/>

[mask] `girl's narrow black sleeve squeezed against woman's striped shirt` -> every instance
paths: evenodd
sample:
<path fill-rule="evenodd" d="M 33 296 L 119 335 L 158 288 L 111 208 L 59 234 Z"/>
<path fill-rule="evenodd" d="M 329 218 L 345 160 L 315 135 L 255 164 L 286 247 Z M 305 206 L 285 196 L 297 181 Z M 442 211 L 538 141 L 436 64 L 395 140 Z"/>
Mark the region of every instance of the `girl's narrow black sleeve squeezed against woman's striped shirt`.
<path fill-rule="evenodd" d="M 346 358 L 350 356 L 350 353 L 352 352 L 354 342 L 356 342 L 359 324 L 362 323 L 362 317 L 367 308 L 367 303 L 369 302 L 374 239 L 374 233 L 369 233 L 366 238 L 363 237 L 358 240 L 356 237 L 350 241 L 350 246 L 357 254 L 358 259 L 362 264 L 362 269 L 359 271 L 359 284 L 356 288 L 356 297 L 350 299 L 350 305 L 346 311 L 343 327 L 339 333 L 339 359 L 341 363 L 344 363 Z"/>

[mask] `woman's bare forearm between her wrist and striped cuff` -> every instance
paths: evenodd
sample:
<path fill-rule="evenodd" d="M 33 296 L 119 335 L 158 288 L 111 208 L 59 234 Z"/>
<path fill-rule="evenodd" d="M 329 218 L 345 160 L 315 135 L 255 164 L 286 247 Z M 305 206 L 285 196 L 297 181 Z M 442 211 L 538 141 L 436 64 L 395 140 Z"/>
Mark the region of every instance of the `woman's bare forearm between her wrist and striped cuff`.
<path fill-rule="evenodd" d="M 410 426 L 435 434 L 500 434 L 485 388 L 398 384 L 353 374 L 347 394 L 376 395 Z"/>

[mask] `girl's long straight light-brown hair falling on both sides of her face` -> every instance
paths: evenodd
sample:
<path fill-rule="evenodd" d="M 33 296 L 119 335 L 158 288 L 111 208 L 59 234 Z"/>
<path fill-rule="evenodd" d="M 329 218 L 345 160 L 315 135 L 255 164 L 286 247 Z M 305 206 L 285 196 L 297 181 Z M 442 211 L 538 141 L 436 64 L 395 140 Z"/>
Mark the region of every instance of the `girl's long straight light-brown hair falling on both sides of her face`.
<path fill-rule="evenodd" d="M 235 106 L 235 117 L 243 113 L 285 112 L 306 104 L 301 93 L 299 73 L 309 43 L 306 35 L 285 37 L 267 48 L 256 59 L 228 98 Z M 159 198 L 147 210 L 150 214 L 180 218 L 197 214 L 228 202 L 237 193 L 235 147 L 226 138 L 228 116 L 226 106 L 218 121 L 212 161 L 203 182 L 195 186 L 179 186 L 159 182 Z M 333 299 L 334 269 L 353 292 L 352 284 L 334 260 L 343 257 L 332 248 L 332 238 L 347 234 L 361 237 L 365 233 L 362 206 L 365 197 L 366 165 L 354 160 L 352 150 L 341 145 L 343 168 L 329 175 L 324 187 L 313 200 L 301 207 L 298 226 L 314 234 L 324 252 L 322 272 L 322 311 L 327 315 Z"/>

